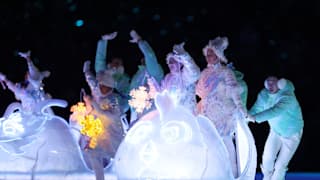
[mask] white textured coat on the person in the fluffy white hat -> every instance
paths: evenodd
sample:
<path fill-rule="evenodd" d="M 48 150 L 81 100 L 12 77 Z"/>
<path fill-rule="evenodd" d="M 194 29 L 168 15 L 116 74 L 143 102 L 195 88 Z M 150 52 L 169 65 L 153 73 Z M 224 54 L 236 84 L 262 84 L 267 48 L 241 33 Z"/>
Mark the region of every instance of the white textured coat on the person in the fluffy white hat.
<path fill-rule="evenodd" d="M 201 98 L 198 111 L 214 122 L 221 136 L 234 133 L 239 111 L 244 111 L 241 88 L 229 68 L 222 64 L 208 65 L 201 72 L 196 93 Z"/>

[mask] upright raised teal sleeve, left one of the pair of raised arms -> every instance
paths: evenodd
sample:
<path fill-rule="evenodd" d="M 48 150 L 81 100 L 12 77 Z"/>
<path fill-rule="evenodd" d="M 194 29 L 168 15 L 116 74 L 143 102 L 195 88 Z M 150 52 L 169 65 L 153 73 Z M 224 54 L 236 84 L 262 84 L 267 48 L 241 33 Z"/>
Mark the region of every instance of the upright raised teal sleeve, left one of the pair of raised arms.
<path fill-rule="evenodd" d="M 94 64 L 94 69 L 96 73 L 100 71 L 104 71 L 107 69 L 107 40 L 99 40 L 97 44 L 97 50 L 96 50 L 96 59 Z"/>

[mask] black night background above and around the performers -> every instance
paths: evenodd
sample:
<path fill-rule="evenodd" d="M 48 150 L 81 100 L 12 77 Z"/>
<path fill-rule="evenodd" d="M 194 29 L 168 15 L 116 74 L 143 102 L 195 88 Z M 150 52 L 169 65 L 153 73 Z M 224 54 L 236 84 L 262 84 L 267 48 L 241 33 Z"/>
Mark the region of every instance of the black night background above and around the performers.
<path fill-rule="evenodd" d="M 68 101 L 67 108 L 54 109 L 68 120 L 70 106 L 80 100 L 80 89 L 89 92 L 82 65 L 85 60 L 93 64 L 101 35 L 118 31 L 109 43 L 108 59 L 123 58 L 129 75 L 142 57 L 137 45 L 129 43 L 131 29 L 150 43 L 165 72 L 165 56 L 173 44 L 185 41 L 185 49 L 202 69 L 206 66 L 202 48 L 209 39 L 227 36 L 225 55 L 245 74 L 249 108 L 268 75 L 294 83 L 305 127 L 289 171 L 320 171 L 319 17 L 316 0 L 0 1 L 0 71 L 14 82 L 22 81 L 27 65 L 17 52 L 31 50 L 35 65 L 51 71 L 44 80 L 45 90 Z M 76 25 L 78 20 L 82 26 Z M 0 100 L 1 114 L 15 98 L 11 91 L 0 90 Z M 250 124 L 250 128 L 260 164 L 268 125 Z"/>

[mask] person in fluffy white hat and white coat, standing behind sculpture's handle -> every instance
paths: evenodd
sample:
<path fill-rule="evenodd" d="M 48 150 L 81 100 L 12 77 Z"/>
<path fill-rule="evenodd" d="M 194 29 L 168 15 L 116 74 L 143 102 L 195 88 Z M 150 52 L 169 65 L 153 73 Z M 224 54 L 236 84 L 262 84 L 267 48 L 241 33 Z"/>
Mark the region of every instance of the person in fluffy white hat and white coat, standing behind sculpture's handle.
<path fill-rule="evenodd" d="M 234 72 L 225 65 L 227 58 L 224 50 L 228 44 L 226 37 L 216 37 L 203 49 L 208 66 L 201 72 L 196 94 L 201 98 L 198 113 L 214 123 L 229 152 L 233 174 L 237 177 L 235 125 L 237 120 L 243 120 L 248 115 L 241 101 L 242 88 Z"/>

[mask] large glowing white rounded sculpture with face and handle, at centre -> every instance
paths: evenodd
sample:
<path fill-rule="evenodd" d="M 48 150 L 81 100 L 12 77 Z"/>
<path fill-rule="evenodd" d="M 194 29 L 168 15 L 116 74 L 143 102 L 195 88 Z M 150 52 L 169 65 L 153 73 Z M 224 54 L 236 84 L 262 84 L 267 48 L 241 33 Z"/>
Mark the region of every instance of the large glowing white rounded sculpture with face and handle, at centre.
<path fill-rule="evenodd" d="M 241 176 L 234 178 L 227 149 L 209 119 L 176 106 L 167 92 L 155 103 L 157 110 L 143 116 L 118 148 L 113 165 L 118 179 L 254 179 L 249 129 L 241 131 L 248 152 Z"/>

